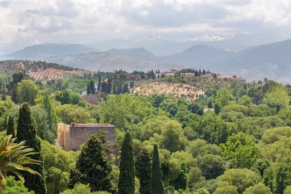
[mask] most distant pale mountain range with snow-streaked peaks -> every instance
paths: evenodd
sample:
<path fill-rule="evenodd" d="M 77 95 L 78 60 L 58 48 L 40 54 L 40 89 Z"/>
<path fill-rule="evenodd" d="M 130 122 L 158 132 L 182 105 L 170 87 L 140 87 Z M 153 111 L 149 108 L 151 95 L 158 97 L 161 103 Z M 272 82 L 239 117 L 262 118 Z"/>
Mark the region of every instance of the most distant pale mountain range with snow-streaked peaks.
<path fill-rule="evenodd" d="M 206 44 L 211 47 L 225 50 L 259 46 L 286 40 L 284 37 L 265 34 L 233 34 L 233 35 L 203 35 L 203 36 L 165 36 L 157 34 L 138 35 L 109 41 L 85 44 L 87 47 L 101 50 L 140 48 L 150 50 L 156 56 L 170 55 L 181 52 L 198 44 Z M 236 50 L 238 51 L 238 50 Z"/>

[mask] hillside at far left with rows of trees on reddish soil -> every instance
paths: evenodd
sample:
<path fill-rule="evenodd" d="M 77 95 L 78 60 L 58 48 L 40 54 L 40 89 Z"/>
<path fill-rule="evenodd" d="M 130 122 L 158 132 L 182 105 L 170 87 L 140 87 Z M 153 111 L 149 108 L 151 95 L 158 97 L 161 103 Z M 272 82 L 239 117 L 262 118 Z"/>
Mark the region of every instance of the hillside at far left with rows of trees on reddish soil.
<path fill-rule="evenodd" d="M 59 64 L 22 60 L 0 61 L 0 69 L 8 71 L 25 70 L 35 80 L 72 78 L 77 75 L 82 76 L 83 73 L 88 72 Z"/>

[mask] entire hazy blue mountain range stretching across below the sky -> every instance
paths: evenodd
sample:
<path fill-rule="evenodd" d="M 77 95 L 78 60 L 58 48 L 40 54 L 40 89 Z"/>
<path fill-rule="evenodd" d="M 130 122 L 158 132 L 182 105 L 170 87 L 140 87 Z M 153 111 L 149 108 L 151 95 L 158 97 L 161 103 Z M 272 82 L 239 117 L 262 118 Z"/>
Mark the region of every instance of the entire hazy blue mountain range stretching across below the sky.
<path fill-rule="evenodd" d="M 103 50 L 103 52 L 101 52 Z M 210 68 L 253 80 L 291 82 L 291 40 L 275 35 L 134 36 L 85 45 L 26 47 L 0 60 L 47 61 L 92 71 Z"/>

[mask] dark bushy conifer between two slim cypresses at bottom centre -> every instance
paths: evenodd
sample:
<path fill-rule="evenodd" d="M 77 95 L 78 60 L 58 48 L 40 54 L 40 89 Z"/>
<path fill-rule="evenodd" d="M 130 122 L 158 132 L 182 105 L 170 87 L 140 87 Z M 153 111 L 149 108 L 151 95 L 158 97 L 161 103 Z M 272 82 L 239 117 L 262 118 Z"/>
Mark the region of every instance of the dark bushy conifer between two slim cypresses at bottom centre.
<path fill-rule="evenodd" d="M 149 194 L 151 181 L 151 166 L 149 154 L 143 149 L 135 162 L 135 175 L 140 180 L 140 193 Z"/>

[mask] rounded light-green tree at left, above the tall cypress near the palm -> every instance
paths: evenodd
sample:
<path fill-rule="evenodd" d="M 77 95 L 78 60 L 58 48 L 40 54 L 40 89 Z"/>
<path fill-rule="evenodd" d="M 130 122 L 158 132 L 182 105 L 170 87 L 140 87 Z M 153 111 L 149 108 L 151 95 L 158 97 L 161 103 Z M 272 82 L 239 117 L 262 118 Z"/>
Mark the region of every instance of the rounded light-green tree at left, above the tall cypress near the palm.
<path fill-rule="evenodd" d="M 34 105 L 34 99 L 37 96 L 37 86 L 30 80 L 22 80 L 17 84 L 19 91 L 20 101 L 28 102 L 30 105 Z"/>

